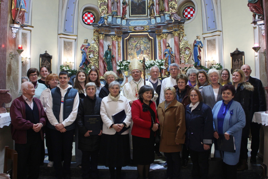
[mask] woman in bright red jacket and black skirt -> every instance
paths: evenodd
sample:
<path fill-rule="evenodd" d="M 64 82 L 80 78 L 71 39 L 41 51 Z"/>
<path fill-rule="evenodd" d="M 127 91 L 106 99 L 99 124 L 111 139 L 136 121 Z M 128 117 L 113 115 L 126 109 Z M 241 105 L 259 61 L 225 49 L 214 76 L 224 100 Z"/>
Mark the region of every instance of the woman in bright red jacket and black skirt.
<path fill-rule="evenodd" d="M 155 131 L 159 127 L 154 97 L 154 89 L 144 85 L 139 90 L 139 99 L 131 106 L 133 126 L 133 162 L 137 164 L 139 178 L 147 179 L 150 164 L 154 162 Z"/>

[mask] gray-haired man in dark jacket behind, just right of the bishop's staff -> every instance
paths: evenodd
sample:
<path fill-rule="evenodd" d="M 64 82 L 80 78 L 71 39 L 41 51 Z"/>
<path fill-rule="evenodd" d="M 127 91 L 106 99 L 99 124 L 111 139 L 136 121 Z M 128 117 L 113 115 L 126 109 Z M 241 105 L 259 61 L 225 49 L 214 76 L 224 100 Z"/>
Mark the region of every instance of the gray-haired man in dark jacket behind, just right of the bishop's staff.
<path fill-rule="evenodd" d="M 150 68 L 151 76 L 148 79 L 146 79 L 146 81 L 150 81 L 152 83 L 152 86 L 154 87 L 155 92 L 158 94 L 158 98 L 155 101 L 156 107 L 159 104 L 159 96 L 160 96 L 161 84 L 162 84 L 162 80 L 158 78 L 159 73 L 160 73 L 160 70 L 158 66 L 153 66 Z M 158 157 L 162 157 L 162 154 L 159 152 L 159 145 L 160 145 L 160 142 L 155 143 L 154 151 Z"/>

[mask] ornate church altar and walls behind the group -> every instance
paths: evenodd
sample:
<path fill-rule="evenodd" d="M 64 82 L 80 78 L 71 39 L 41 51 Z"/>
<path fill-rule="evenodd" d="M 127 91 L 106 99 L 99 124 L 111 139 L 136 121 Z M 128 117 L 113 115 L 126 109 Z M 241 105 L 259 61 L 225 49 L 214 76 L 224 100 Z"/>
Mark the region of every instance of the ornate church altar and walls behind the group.
<path fill-rule="evenodd" d="M 163 2 L 164 9 L 159 1 Z M 1 107 L 9 108 L 18 97 L 21 77 L 27 76 L 29 68 L 39 70 L 47 65 L 52 73 L 59 74 L 66 67 L 69 71 L 94 67 L 101 81 L 106 71 L 114 71 L 118 81 L 124 84 L 132 78 L 127 69 L 118 66 L 133 59 L 160 60 L 160 63 L 165 59 L 167 44 L 181 73 L 192 66 L 206 70 L 221 65 L 222 69 L 232 71 L 248 64 L 251 76 L 262 81 L 267 93 L 268 2 L 265 0 L 259 0 L 262 18 L 254 16 L 244 0 L 117 0 L 116 7 L 114 0 L 23 2 L 25 22 L 17 24 L 13 20 L 12 0 L 0 0 L 3 65 L 0 91 L 9 90 L 0 92 Z M 202 48 L 194 52 L 197 42 Z M 255 51 L 253 47 L 260 48 Z M 113 55 L 111 64 L 105 59 L 108 48 Z M 200 54 L 197 61 L 194 53 Z M 169 74 L 166 64 L 162 66 L 159 66 L 160 77 L 164 79 Z M 148 68 L 146 70 L 148 72 Z M 12 96 L 9 102 L 4 101 L 6 93 Z M 1 118 L 0 123 L 4 123 Z M 261 142 L 264 148 L 268 145 L 266 127 L 263 126 Z M 0 135 L 0 160 L 3 161 L 5 146 L 13 146 L 10 126 L 1 126 Z M 266 168 L 263 175 L 267 177 L 268 153 L 264 151 L 262 149 L 261 163 Z M 2 169 L 0 162 L 0 173 Z"/>

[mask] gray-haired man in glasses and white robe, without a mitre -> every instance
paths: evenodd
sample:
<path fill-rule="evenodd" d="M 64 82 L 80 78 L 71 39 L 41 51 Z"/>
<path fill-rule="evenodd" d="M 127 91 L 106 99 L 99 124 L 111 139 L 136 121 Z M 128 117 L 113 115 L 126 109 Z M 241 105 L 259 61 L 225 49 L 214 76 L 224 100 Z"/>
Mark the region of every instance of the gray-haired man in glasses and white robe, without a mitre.
<path fill-rule="evenodd" d="M 179 65 L 176 63 L 172 63 L 169 65 L 170 76 L 168 78 L 163 79 L 162 81 L 159 104 L 165 101 L 164 90 L 166 89 L 166 87 L 172 87 L 172 86 L 177 85 L 176 77 L 179 74 L 179 68 L 180 68 Z"/>

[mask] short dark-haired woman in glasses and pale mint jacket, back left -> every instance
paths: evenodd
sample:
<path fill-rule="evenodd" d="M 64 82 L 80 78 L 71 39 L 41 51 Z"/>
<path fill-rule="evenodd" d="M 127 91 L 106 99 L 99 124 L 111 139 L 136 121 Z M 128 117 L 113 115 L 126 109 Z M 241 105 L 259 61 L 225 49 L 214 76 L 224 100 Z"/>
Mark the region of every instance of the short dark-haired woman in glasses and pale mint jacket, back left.
<path fill-rule="evenodd" d="M 37 78 L 39 76 L 39 71 L 37 68 L 30 68 L 27 71 L 27 77 L 29 78 L 29 81 L 33 83 L 33 86 L 35 88 L 35 95 L 33 97 L 40 98 L 41 93 L 47 89 L 46 85 L 42 83 L 38 83 Z M 18 97 L 22 95 L 21 91 L 18 93 Z"/>

